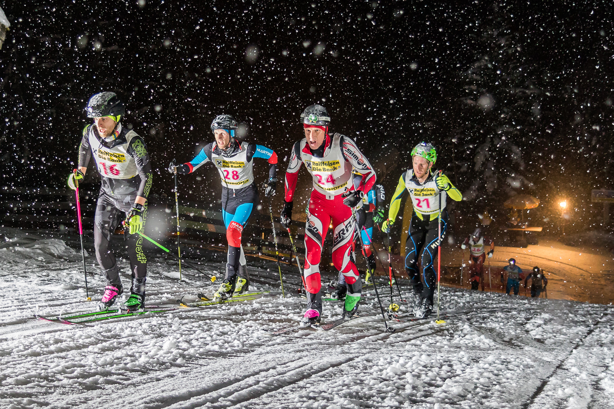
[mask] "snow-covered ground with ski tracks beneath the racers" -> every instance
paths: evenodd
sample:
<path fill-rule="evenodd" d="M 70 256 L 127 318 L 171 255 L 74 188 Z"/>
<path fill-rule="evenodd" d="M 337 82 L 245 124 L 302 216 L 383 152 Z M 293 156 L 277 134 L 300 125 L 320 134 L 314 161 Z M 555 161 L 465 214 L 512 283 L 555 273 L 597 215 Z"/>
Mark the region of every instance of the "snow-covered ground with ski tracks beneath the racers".
<path fill-rule="evenodd" d="M 256 300 L 68 326 L 33 313 L 93 307 L 80 254 L 60 239 L 3 232 L 17 240 L 0 246 L 2 408 L 614 408 L 608 305 L 443 287 L 445 324 L 389 322 L 389 334 L 381 317 L 365 317 L 267 337 L 263 329 L 298 321 L 304 300 L 297 272 L 284 270 L 283 299 L 276 266 L 250 259 L 252 289 L 271 291 Z M 95 264 L 88 256 L 93 300 L 103 288 Z M 150 257 L 147 304 L 214 288 L 192 270 L 187 283 L 177 277 L 176 263 Z M 363 310 L 376 314 L 373 289 L 364 291 Z M 325 303 L 325 320 L 340 313 Z"/>

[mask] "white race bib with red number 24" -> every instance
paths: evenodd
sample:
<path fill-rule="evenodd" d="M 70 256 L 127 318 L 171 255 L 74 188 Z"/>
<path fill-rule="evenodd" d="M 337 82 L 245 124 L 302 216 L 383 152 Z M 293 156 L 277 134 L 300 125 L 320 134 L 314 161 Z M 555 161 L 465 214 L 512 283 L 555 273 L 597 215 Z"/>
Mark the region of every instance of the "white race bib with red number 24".
<path fill-rule="evenodd" d="M 313 187 L 332 199 L 349 189 L 352 182 L 352 164 L 343 158 L 340 145 L 341 135 L 335 134 L 330 149 L 324 158 L 316 158 L 305 153 L 307 140 L 301 140 L 301 159 L 313 177 Z"/>

